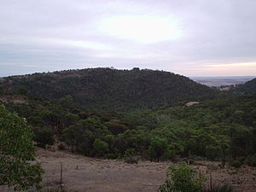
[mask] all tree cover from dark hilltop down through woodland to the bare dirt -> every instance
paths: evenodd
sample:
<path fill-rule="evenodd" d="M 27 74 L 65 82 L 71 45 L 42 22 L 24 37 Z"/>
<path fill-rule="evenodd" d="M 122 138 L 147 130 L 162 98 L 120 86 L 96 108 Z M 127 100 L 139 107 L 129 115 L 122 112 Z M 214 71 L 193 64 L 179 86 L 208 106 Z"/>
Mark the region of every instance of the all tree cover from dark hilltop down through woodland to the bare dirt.
<path fill-rule="evenodd" d="M 255 165 L 255 95 L 217 99 L 217 90 L 183 76 L 137 68 L 35 73 L 0 87 L 25 98 L 4 104 L 27 119 L 41 147 L 61 141 L 74 153 L 127 162 L 201 156 Z M 185 107 L 190 99 L 205 101 Z"/>

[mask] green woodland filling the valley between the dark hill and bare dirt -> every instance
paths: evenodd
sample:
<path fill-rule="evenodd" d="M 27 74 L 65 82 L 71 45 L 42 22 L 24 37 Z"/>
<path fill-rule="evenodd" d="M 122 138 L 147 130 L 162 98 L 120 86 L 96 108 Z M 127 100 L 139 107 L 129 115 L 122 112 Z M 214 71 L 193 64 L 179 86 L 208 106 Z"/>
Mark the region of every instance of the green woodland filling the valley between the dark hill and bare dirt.
<path fill-rule="evenodd" d="M 230 97 L 187 108 L 175 104 L 119 113 L 84 110 L 72 99 L 68 108 L 59 101 L 38 100 L 7 103 L 6 107 L 36 127 L 35 140 L 42 147 L 54 142 L 55 133 L 68 150 L 86 156 L 124 158 L 131 150 L 132 156 L 153 161 L 201 156 L 254 165 L 255 98 Z"/>

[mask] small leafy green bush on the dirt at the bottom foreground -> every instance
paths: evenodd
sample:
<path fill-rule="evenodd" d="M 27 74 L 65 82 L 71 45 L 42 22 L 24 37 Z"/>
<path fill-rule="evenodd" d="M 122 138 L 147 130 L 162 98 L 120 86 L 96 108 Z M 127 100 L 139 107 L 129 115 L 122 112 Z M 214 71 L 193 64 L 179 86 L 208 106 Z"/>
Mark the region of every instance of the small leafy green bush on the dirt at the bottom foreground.
<path fill-rule="evenodd" d="M 166 183 L 160 185 L 158 192 L 201 192 L 202 178 L 190 166 L 182 163 L 172 164 L 167 171 Z"/>

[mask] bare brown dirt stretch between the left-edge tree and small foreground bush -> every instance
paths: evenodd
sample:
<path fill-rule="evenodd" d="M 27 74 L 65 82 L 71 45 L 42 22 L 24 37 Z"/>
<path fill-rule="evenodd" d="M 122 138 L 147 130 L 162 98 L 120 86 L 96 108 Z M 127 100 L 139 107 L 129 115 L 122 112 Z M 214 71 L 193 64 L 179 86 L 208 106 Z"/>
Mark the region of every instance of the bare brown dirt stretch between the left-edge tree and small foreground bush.
<path fill-rule="evenodd" d="M 38 161 L 44 167 L 43 186 L 63 181 L 68 189 L 83 192 L 156 192 L 166 179 L 168 162 L 126 164 L 121 160 L 101 160 L 59 151 L 38 150 Z"/>

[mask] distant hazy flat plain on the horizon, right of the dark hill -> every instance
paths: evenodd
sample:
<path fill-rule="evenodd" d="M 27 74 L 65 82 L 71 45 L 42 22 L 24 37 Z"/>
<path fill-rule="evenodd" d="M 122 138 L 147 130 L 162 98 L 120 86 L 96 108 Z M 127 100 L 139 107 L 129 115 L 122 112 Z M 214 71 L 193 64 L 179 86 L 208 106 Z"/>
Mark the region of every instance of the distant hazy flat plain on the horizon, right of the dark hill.
<path fill-rule="evenodd" d="M 221 86 L 231 84 L 244 84 L 247 81 L 254 79 L 254 76 L 227 76 L 227 77 L 190 77 L 195 82 L 206 84 L 207 86 Z"/>

